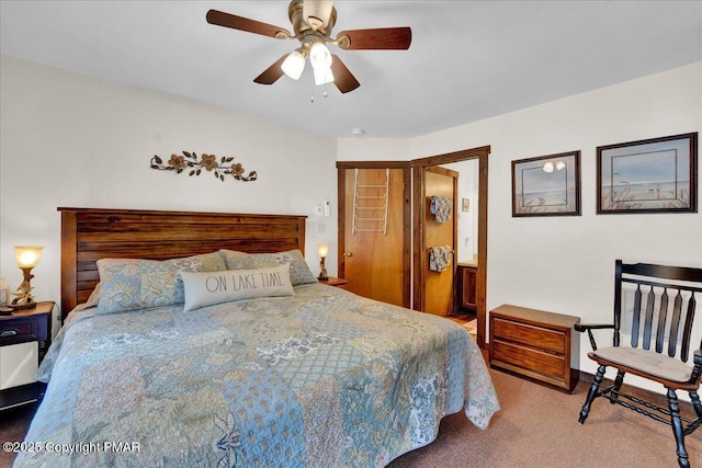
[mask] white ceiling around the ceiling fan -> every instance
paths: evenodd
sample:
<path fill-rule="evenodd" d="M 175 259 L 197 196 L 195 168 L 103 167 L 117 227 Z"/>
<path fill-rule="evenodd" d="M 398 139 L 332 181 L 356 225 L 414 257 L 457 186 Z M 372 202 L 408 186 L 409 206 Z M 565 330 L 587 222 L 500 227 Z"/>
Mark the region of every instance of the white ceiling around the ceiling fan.
<path fill-rule="evenodd" d="M 0 2 L 3 54 L 284 122 L 407 138 L 702 61 L 700 1 L 338 0 L 342 30 L 410 26 L 409 50 L 332 50 L 341 94 L 252 80 L 297 42 L 207 24 L 210 9 L 292 31 L 287 1 Z M 324 93 L 327 96 L 324 96 Z M 313 102 L 314 98 L 314 102 Z"/>

